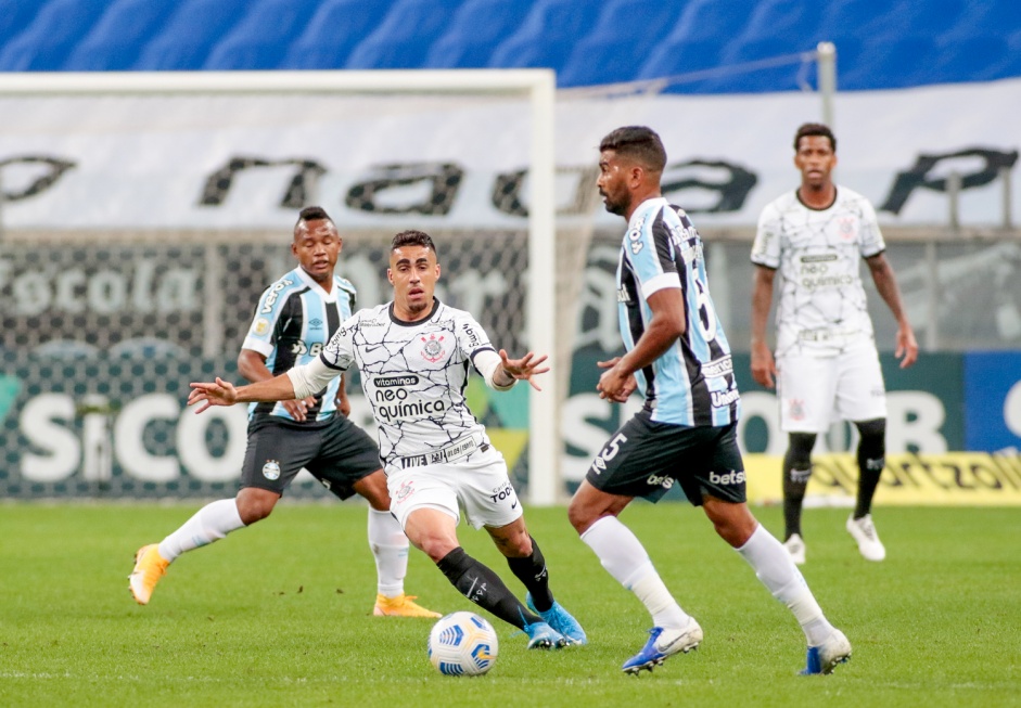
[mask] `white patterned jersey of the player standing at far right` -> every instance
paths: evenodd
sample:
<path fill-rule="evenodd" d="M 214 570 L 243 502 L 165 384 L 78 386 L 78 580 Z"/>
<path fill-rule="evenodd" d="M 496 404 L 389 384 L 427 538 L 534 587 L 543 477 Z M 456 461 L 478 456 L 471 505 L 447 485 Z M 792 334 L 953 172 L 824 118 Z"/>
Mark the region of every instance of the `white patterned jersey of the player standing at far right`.
<path fill-rule="evenodd" d="M 828 209 L 812 209 L 791 191 L 758 219 L 752 262 L 779 270 L 777 356 L 828 356 L 872 338 L 862 258 L 885 249 L 872 205 L 845 186 Z"/>

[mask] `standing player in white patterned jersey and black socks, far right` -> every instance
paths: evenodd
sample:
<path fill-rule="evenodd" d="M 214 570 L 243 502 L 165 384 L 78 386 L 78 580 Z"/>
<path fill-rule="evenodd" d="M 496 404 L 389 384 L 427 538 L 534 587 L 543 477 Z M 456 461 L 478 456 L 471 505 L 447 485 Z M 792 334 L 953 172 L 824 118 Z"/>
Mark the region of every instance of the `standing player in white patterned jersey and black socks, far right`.
<path fill-rule="evenodd" d="M 752 246 L 752 376 L 776 379 L 780 427 L 789 434 L 783 456 L 786 545 L 805 562 L 801 513 L 812 475 L 812 449 L 832 420 L 857 427 L 858 494 L 846 528 L 869 561 L 886 550 L 872 523 L 872 497 L 885 456 L 886 395 L 872 322 L 859 274 L 864 258 L 880 296 L 897 321 L 901 368 L 918 358 L 897 282 L 883 250 L 876 211 L 860 194 L 832 181 L 837 139 L 827 126 L 805 124 L 794 137 L 801 186 L 763 209 Z M 776 358 L 766 344 L 766 320 L 779 272 Z"/>

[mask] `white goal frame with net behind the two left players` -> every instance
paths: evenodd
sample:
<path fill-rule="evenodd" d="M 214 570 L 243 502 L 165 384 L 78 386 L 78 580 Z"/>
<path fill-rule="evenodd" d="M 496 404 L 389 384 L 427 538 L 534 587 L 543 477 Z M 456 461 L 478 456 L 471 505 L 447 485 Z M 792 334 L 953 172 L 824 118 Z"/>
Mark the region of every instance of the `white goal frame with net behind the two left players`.
<path fill-rule="evenodd" d="M 531 500 L 563 493 L 558 332 L 574 314 L 558 260 L 579 249 L 556 246 L 550 72 L 9 75 L 0 112 L 7 495 L 231 488 L 243 411 L 194 422 L 188 382 L 237 378 L 309 204 L 336 221 L 360 306 L 390 298 L 393 234 L 421 229 L 442 299 L 498 347 L 551 355 L 560 378 L 543 394 L 470 396 Z"/>

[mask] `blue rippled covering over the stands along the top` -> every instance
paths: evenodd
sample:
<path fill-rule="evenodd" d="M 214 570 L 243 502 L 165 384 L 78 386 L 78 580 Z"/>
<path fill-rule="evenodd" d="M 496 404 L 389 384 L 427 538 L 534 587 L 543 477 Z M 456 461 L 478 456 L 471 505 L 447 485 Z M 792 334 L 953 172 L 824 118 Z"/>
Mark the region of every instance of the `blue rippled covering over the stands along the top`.
<path fill-rule="evenodd" d="M 864 90 L 1021 76 L 1018 33 L 1021 0 L 0 0 L 0 70 L 549 66 L 585 86 L 829 40 L 839 88 Z M 791 66 L 673 90 L 796 82 Z"/>

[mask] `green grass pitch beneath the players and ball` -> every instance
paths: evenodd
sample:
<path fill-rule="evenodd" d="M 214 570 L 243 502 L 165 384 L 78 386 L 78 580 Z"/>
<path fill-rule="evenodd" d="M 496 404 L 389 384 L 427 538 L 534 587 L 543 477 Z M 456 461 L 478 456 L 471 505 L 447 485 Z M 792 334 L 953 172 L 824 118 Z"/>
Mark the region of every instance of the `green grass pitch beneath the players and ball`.
<path fill-rule="evenodd" d="M 2 706 L 1008 706 L 1021 705 L 1021 511 L 880 509 L 889 557 L 863 561 L 845 510 L 808 510 L 804 575 L 854 645 L 830 677 L 799 677 L 804 639 L 741 557 L 687 504 L 623 516 L 681 605 L 698 652 L 639 678 L 621 662 L 649 617 L 575 536 L 563 509 L 526 518 L 553 590 L 590 644 L 527 652 L 495 622 L 500 654 L 475 679 L 439 675 L 430 620 L 370 615 L 375 569 L 366 512 L 281 504 L 273 516 L 186 554 L 140 607 L 132 554 L 197 505 L 0 505 Z M 774 532 L 780 512 L 756 510 Z M 486 535 L 469 552 L 521 590 Z M 472 609 L 412 551 L 409 592 Z"/>

